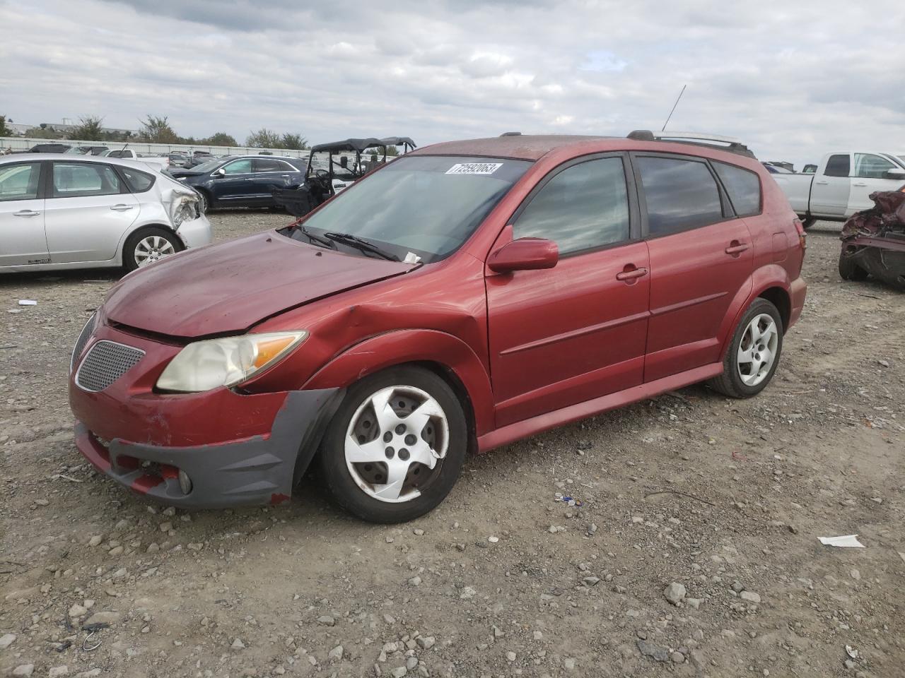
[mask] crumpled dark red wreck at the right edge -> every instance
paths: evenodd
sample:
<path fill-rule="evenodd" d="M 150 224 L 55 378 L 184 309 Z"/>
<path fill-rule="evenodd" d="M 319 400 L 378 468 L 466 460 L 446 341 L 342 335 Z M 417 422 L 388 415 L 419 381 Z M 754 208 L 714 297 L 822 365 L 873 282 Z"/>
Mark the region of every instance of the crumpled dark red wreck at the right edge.
<path fill-rule="evenodd" d="M 843 280 L 872 276 L 905 291 L 905 186 L 871 193 L 873 207 L 845 222 L 839 275 Z"/>

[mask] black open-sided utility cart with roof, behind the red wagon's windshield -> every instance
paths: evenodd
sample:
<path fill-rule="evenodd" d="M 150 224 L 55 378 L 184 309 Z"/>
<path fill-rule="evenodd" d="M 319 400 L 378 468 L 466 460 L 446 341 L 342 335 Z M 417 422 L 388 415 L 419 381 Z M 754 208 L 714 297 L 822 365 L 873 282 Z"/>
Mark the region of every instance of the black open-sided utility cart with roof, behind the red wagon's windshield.
<path fill-rule="evenodd" d="M 402 146 L 405 154 L 415 144 L 409 137 L 367 137 L 311 146 L 304 184 L 274 190 L 273 200 L 293 216 L 302 217 L 386 164 L 387 146 Z"/>

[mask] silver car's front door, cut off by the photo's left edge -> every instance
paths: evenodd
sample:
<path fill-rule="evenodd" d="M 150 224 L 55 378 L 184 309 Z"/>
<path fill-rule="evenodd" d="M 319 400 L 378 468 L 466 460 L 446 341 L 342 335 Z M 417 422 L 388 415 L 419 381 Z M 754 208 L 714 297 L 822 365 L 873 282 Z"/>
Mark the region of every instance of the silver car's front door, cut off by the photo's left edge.
<path fill-rule="evenodd" d="M 0 165 L 0 267 L 47 264 L 41 162 Z"/>

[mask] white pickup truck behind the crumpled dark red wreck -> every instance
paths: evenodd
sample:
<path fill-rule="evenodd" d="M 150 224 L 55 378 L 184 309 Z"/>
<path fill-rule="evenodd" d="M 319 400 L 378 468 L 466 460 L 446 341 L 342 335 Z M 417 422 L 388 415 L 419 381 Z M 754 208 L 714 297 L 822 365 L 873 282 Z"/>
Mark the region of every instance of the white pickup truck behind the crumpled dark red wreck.
<path fill-rule="evenodd" d="M 814 221 L 845 221 L 873 207 L 874 191 L 905 187 L 905 155 L 828 153 L 813 174 L 771 174 L 806 228 Z"/>

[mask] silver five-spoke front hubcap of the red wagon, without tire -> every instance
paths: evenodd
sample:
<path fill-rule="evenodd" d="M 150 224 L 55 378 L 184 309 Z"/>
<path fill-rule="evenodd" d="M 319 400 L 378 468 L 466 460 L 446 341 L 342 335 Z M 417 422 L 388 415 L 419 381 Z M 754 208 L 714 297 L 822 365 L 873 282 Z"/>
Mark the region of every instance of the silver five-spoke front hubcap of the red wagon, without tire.
<path fill-rule="evenodd" d="M 449 446 L 449 421 L 429 393 L 389 386 L 364 400 L 345 438 L 348 472 L 359 489 L 381 502 L 420 496 L 439 475 Z"/>

